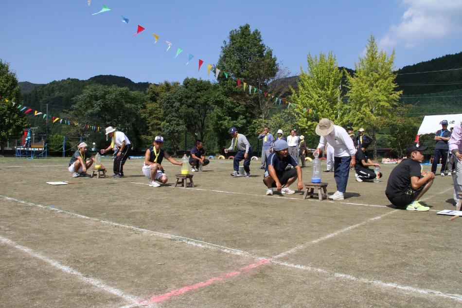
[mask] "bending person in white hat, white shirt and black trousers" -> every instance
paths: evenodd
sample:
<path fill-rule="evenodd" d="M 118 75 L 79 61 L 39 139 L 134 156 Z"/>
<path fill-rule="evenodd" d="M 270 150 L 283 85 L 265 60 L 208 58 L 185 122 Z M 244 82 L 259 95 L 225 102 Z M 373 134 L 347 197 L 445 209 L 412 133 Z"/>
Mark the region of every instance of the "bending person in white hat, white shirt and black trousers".
<path fill-rule="evenodd" d="M 106 136 L 111 137 L 111 144 L 106 149 L 101 150 L 101 154 L 114 150 L 116 157 L 114 158 L 113 177 L 123 178 L 124 164 L 131 152 L 130 140 L 123 132 L 116 131 L 112 126 L 106 127 Z"/>

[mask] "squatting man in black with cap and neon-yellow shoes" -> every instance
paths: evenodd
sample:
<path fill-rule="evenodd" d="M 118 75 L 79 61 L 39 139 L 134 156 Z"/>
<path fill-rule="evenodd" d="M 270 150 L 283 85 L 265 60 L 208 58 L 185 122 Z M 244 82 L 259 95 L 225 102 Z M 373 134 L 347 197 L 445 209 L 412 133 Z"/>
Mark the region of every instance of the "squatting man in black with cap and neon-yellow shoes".
<path fill-rule="evenodd" d="M 409 145 L 407 158 L 402 160 L 390 174 L 385 195 L 397 208 L 408 211 L 428 211 L 430 208 L 420 204 L 420 199 L 433 184 L 435 174 L 421 171 L 426 146 Z"/>

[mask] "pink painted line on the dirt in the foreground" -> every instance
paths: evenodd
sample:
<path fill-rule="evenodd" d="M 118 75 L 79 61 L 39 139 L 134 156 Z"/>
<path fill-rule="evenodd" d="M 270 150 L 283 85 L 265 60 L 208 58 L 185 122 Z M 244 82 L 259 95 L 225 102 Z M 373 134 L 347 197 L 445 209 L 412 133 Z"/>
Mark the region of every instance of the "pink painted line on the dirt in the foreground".
<path fill-rule="evenodd" d="M 141 305 L 150 305 L 150 304 L 164 302 L 164 301 L 170 299 L 173 296 L 184 294 L 186 292 L 196 290 L 196 289 L 199 289 L 199 288 L 207 287 L 207 286 L 209 286 L 209 285 L 211 285 L 211 284 L 213 284 L 213 283 L 215 283 L 217 281 L 222 281 L 225 278 L 229 278 L 229 277 L 238 275 L 238 274 L 240 274 L 242 272 L 248 272 L 251 269 L 257 268 L 260 265 L 267 264 L 267 263 L 270 263 L 270 262 L 271 261 L 269 261 L 267 259 L 260 259 L 257 263 L 252 263 L 252 264 L 250 264 L 248 266 L 245 266 L 243 268 L 240 268 L 240 269 L 238 269 L 236 271 L 228 272 L 228 273 L 223 274 L 221 276 L 213 277 L 213 278 L 210 278 L 210 279 L 208 279 L 206 281 L 202 281 L 202 282 L 196 283 L 196 284 L 191 285 L 191 286 L 186 286 L 186 287 L 179 288 L 177 290 L 173 290 L 173 291 L 161 294 L 161 295 L 153 296 L 153 297 L 151 297 L 150 299 L 148 299 L 146 301 L 141 301 L 140 304 Z"/>

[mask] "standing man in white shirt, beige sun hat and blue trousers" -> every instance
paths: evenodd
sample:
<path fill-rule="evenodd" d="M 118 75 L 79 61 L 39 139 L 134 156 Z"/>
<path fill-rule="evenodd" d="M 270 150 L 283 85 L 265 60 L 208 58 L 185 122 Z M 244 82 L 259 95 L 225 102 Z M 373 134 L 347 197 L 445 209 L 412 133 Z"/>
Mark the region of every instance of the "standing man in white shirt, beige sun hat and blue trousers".
<path fill-rule="evenodd" d="M 315 152 L 319 154 L 327 143 L 334 148 L 334 179 L 337 191 L 329 199 L 343 200 L 350 168 L 355 166 L 355 145 L 345 128 L 334 125 L 329 119 L 321 119 L 315 131 L 321 136 Z"/>

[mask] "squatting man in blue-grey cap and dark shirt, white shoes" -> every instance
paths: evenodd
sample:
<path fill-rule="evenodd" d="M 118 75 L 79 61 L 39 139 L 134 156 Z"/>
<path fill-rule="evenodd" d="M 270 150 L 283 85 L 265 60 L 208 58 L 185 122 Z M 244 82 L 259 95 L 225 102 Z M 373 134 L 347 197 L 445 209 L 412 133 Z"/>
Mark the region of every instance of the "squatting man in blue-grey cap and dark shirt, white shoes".
<path fill-rule="evenodd" d="M 287 169 L 287 165 L 294 168 Z M 303 189 L 302 169 L 295 158 L 288 154 L 288 145 L 284 140 L 277 140 L 274 143 L 274 150 L 269 155 L 263 182 L 267 185 L 267 195 L 273 194 L 273 187 L 280 190 L 283 194 L 294 194 L 295 191 L 289 188 L 296 179 L 297 188 Z"/>

